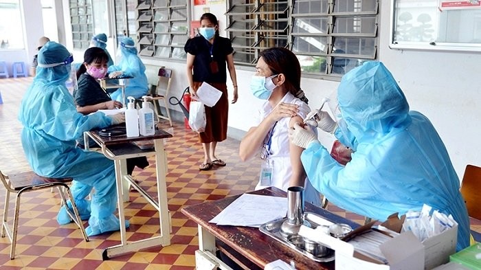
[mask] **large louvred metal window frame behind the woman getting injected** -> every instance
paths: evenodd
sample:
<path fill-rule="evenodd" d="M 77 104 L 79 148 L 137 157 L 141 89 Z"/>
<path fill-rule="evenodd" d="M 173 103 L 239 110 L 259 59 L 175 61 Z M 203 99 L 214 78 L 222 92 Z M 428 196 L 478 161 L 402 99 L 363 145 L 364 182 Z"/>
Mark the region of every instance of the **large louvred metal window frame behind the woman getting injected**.
<path fill-rule="evenodd" d="M 353 0 L 353 3 L 356 0 Z M 311 1 L 303 1 L 303 2 L 308 2 L 310 3 Z M 361 7 L 362 7 L 362 1 L 361 2 Z M 361 62 L 364 60 L 376 60 L 378 57 L 378 44 L 379 44 L 379 10 L 380 10 L 380 1 L 379 0 L 372 0 L 372 3 L 367 3 L 367 5 L 371 4 L 372 5 L 372 10 L 371 11 L 357 11 L 357 12 L 335 12 L 335 3 L 338 3 L 338 1 L 335 0 L 327 0 L 324 1 L 324 8 L 326 10 L 320 10 L 320 12 L 316 13 L 296 13 L 294 14 L 294 8 L 295 4 L 300 3 L 296 0 L 289 0 L 287 1 L 287 35 L 280 35 L 277 36 L 276 38 L 285 38 L 285 41 L 288 49 L 293 50 L 293 47 L 295 46 L 295 42 L 299 42 L 298 38 L 316 38 L 317 41 L 320 40 L 320 38 L 325 38 L 326 39 L 326 49 L 325 52 L 295 52 L 296 55 L 298 56 L 315 56 L 315 57 L 325 57 L 326 58 L 326 69 L 325 71 L 302 71 L 303 75 L 307 76 L 313 76 L 315 78 L 327 78 L 330 80 L 340 80 L 341 76 L 344 74 L 335 74 L 333 73 L 333 66 L 335 63 L 335 60 L 339 60 L 341 58 L 342 60 L 348 60 L 348 59 L 356 59 L 357 63 L 356 65 L 360 65 Z M 301 2 L 302 3 L 302 2 Z M 265 47 L 262 47 L 260 45 L 262 38 L 265 38 L 266 36 L 260 36 L 262 32 L 266 32 L 265 30 L 256 30 L 256 27 L 262 23 L 262 20 L 259 19 L 259 14 L 278 14 L 279 12 L 262 12 L 261 6 L 264 5 L 265 3 L 262 2 L 262 0 L 251 0 L 251 3 L 243 3 L 243 4 L 237 4 L 235 0 L 230 0 L 227 1 L 227 12 L 225 13 L 225 16 L 227 17 L 227 36 L 231 38 L 232 40 L 232 47 L 234 47 L 234 63 L 239 66 L 247 66 L 251 67 L 256 64 L 256 61 L 258 59 L 258 53 L 262 50 L 265 49 Z M 246 12 L 239 12 L 236 10 L 236 7 L 239 5 L 241 6 L 249 6 L 252 5 L 254 6 L 254 10 L 249 10 Z M 369 7 L 371 6 L 369 5 Z M 251 30 L 245 30 L 245 29 L 233 29 L 232 24 L 235 23 L 238 18 L 238 16 L 245 16 L 246 18 L 252 18 L 254 17 L 254 27 L 251 28 Z M 249 17 L 248 17 L 249 16 Z M 298 21 L 302 21 L 302 19 L 320 19 L 326 18 L 326 23 L 328 25 L 328 31 L 327 32 L 319 32 L 319 33 L 313 33 L 311 31 L 309 32 L 296 32 L 295 23 Z M 368 21 L 369 17 L 372 17 L 374 20 L 371 22 L 372 27 L 372 32 L 370 33 L 362 33 L 362 32 L 352 32 L 352 33 L 338 33 L 334 32 L 333 27 L 335 24 L 335 20 L 338 18 L 354 18 L 354 20 L 361 20 L 359 23 L 362 25 L 364 21 Z M 366 18 L 366 19 L 363 19 Z M 247 19 L 245 20 L 247 21 Z M 346 20 L 348 21 L 348 20 Z M 244 34 L 241 37 L 246 37 L 250 36 L 252 39 L 255 40 L 251 46 L 241 46 L 236 44 L 234 41 L 236 38 L 240 37 L 240 33 L 250 33 Z M 273 30 L 270 31 L 271 33 L 283 33 L 282 30 Z M 343 39 L 344 42 L 347 42 L 349 39 L 353 38 L 359 38 L 359 44 L 361 43 L 366 43 L 368 44 L 368 49 L 359 49 L 359 54 L 339 54 L 334 52 L 333 46 L 335 44 L 335 41 L 337 39 Z M 240 50 L 239 50 L 240 49 Z M 249 51 L 247 51 L 249 49 Z M 235 57 L 236 53 L 241 53 L 244 54 L 251 54 L 251 57 L 249 58 L 248 56 L 244 56 L 247 60 L 251 59 L 251 62 L 248 63 L 248 61 L 240 61 L 238 58 Z M 247 52 L 246 52 L 247 51 Z M 368 51 L 369 53 L 367 53 Z M 294 51 L 293 51 L 294 52 Z M 362 53 L 361 53 L 362 52 Z M 351 65 L 352 66 L 352 65 Z"/>

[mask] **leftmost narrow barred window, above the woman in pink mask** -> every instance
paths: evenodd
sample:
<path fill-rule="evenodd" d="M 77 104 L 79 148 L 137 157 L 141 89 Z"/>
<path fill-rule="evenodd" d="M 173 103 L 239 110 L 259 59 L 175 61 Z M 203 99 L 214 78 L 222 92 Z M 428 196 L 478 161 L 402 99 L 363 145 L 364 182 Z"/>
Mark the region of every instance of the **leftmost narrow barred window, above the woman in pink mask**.
<path fill-rule="evenodd" d="M 69 3 L 74 49 L 87 49 L 93 36 L 91 1 L 70 0 Z"/>

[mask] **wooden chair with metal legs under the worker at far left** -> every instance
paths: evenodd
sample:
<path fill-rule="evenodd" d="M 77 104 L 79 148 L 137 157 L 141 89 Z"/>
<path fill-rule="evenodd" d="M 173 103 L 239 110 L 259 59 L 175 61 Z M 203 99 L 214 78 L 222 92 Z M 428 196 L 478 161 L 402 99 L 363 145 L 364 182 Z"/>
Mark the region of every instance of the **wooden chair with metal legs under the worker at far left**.
<path fill-rule="evenodd" d="M 3 209 L 3 221 L 1 226 L 1 237 L 5 237 L 5 234 L 6 234 L 10 240 L 10 243 L 12 243 L 10 247 L 11 260 L 13 260 L 15 256 L 16 236 L 18 234 L 18 227 L 19 227 L 20 198 L 21 198 L 21 195 L 25 192 L 50 189 L 50 188 L 56 187 L 58 188 L 58 192 L 60 193 L 60 198 L 62 199 L 61 205 L 67 205 L 67 199 L 65 196 L 65 193 L 67 193 L 67 196 L 71 201 L 71 206 L 73 210 L 71 211 L 69 207 L 67 207 L 67 214 L 69 214 L 70 218 L 80 228 L 80 231 L 82 232 L 82 236 L 84 237 L 85 241 L 89 242 L 89 237 L 85 233 L 83 223 L 80 220 L 80 216 L 78 214 L 78 210 L 74 202 L 74 197 L 72 196 L 70 192 L 70 188 L 67 185 L 67 183 L 70 183 L 73 179 L 71 178 L 54 179 L 54 178 L 41 177 L 36 175 L 34 172 L 21 172 L 16 175 L 7 176 L 7 175 L 3 175 L 3 173 L 0 172 L 0 180 L 5 186 L 5 190 L 6 190 L 5 206 Z M 8 225 L 8 207 L 9 207 L 11 193 L 16 193 L 15 210 L 14 210 L 13 225 L 12 225 L 13 230 L 10 229 Z"/>

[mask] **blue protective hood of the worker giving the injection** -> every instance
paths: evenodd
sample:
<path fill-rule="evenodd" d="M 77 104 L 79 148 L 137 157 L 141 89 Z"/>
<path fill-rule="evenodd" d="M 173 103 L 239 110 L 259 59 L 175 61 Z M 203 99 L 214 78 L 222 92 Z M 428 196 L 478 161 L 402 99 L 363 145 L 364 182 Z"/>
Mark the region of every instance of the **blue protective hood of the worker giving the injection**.
<path fill-rule="evenodd" d="M 411 122 L 403 91 L 381 62 L 366 62 L 344 75 L 337 99 L 348 129 L 358 140 Z"/>

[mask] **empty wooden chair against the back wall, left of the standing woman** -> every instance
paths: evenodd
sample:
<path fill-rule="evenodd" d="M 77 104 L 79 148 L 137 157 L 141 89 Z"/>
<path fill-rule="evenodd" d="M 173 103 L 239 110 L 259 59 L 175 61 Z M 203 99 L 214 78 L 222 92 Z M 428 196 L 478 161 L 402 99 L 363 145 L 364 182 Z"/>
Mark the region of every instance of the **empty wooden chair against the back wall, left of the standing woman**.
<path fill-rule="evenodd" d="M 154 105 L 155 113 L 157 113 L 157 118 L 159 118 L 159 120 L 168 120 L 170 126 L 173 126 L 172 117 L 170 117 L 170 111 L 168 109 L 167 102 L 167 97 L 170 92 L 170 85 L 172 84 L 172 69 L 166 69 L 165 67 L 161 67 L 159 68 L 158 76 L 159 78 L 157 80 L 157 86 L 153 86 L 150 88 L 150 93 L 148 95 L 150 95 L 151 98 L 149 98 L 149 101 L 152 102 Z M 166 108 L 167 116 L 162 115 L 160 111 L 160 100 L 164 100 L 164 106 Z M 137 98 L 135 100 L 136 106 L 140 103 L 142 103 L 142 99 Z"/>

